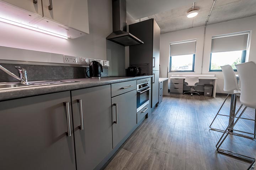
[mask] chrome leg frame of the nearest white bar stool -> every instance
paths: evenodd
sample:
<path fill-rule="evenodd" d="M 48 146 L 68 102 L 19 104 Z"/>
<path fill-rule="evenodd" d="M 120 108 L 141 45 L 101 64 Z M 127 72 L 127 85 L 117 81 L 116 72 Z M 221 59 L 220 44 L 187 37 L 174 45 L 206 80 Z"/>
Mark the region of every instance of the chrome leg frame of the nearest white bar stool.
<path fill-rule="evenodd" d="M 228 131 L 228 129 L 233 129 L 234 126 L 236 125 L 236 123 L 238 123 L 238 120 L 241 118 L 242 114 L 244 114 L 245 110 L 246 110 L 247 107 L 245 107 L 243 109 L 243 111 L 241 112 L 241 114 L 239 115 L 239 117 L 236 119 L 235 123 L 230 127 L 231 123 L 228 125 L 228 127 L 226 128 L 225 132 L 223 133 L 222 137 L 220 137 L 217 145 L 216 145 L 216 148 L 217 148 L 217 151 L 218 152 L 221 152 L 221 153 L 224 153 L 224 154 L 228 154 L 228 155 L 231 155 L 231 156 L 234 156 L 234 157 L 237 157 L 237 158 L 240 158 L 240 159 L 244 159 L 246 161 L 249 161 L 249 162 L 254 162 L 255 161 L 255 158 L 252 158 L 252 157 L 249 157 L 249 156 L 246 156 L 246 155 L 242 155 L 240 153 L 236 153 L 236 152 L 233 152 L 233 151 L 229 151 L 227 149 L 223 149 L 223 148 L 220 148 L 220 146 L 222 145 L 222 143 L 225 141 L 225 139 L 228 137 L 228 135 L 230 134 L 230 131 Z M 235 116 L 233 117 L 232 121 L 235 119 L 236 115 L 238 114 L 238 112 L 240 111 L 241 107 L 239 108 L 239 110 L 236 112 Z M 228 132 L 227 132 L 228 131 Z M 227 134 L 226 134 L 227 132 Z M 226 136 L 223 138 L 223 136 L 226 134 Z M 223 140 L 222 140 L 223 138 Z"/>

